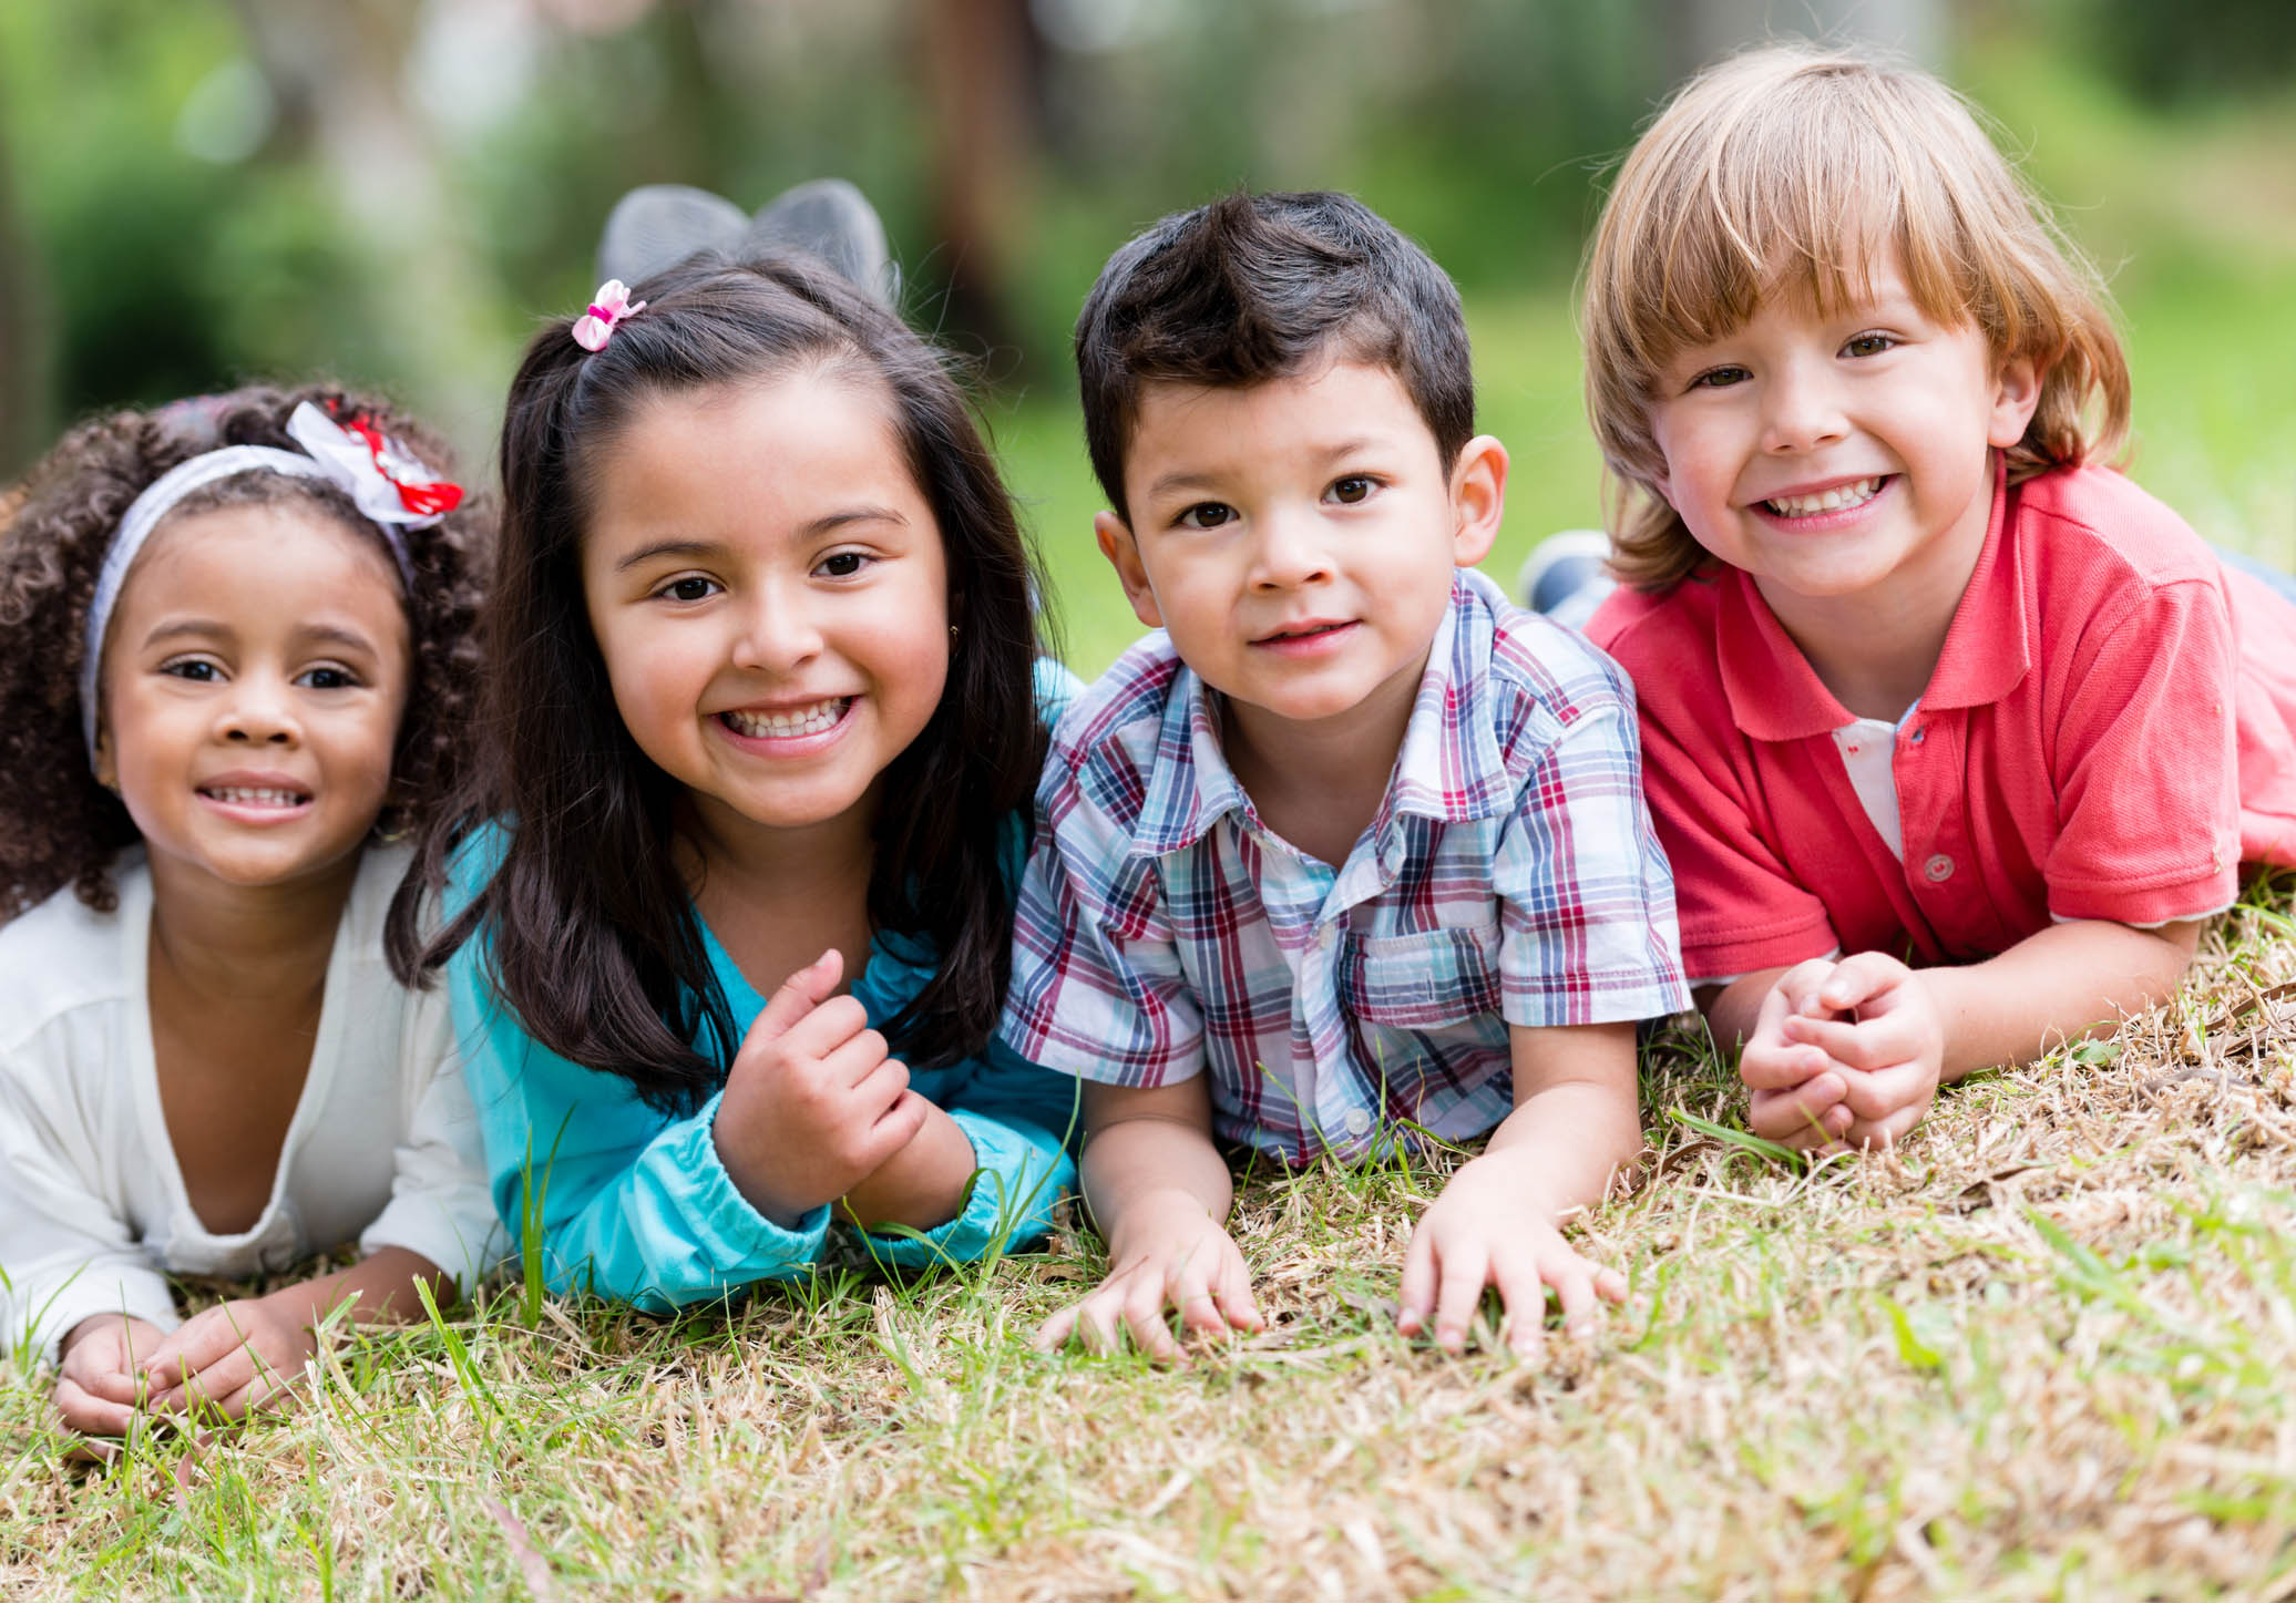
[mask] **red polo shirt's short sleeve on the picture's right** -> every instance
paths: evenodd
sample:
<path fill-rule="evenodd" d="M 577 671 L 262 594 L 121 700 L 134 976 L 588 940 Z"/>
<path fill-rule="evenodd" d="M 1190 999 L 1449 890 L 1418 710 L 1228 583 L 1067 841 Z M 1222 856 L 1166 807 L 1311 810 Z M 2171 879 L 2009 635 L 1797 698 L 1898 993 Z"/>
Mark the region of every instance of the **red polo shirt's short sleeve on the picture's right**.
<path fill-rule="evenodd" d="M 2165 583 L 2082 641 L 2050 769 L 2055 919 L 2158 926 L 2239 896 L 2239 666 L 2225 595 Z"/>

